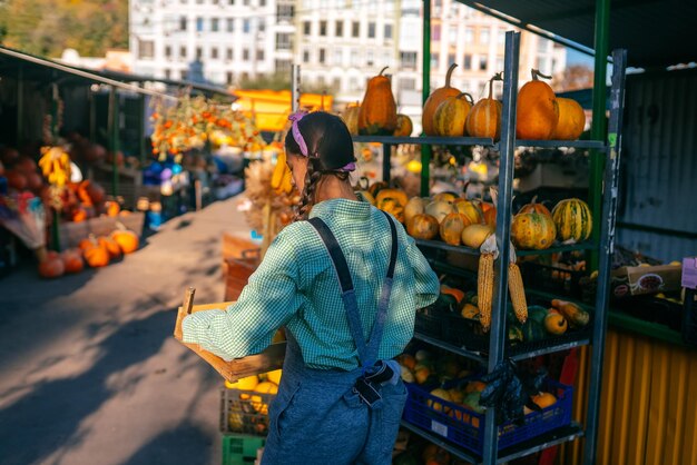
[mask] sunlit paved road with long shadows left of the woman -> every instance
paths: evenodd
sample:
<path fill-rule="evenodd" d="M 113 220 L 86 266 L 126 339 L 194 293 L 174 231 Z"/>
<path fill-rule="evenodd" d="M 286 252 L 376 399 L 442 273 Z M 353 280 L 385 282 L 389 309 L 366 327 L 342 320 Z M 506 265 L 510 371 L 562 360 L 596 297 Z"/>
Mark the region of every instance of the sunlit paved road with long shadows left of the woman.
<path fill-rule="evenodd" d="M 223 300 L 225 230 L 247 230 L 236 199 L 106 268 L 0 279 L 0 464 L 220 463 L 223 380 L 170 335 L 186 287 Z"/>

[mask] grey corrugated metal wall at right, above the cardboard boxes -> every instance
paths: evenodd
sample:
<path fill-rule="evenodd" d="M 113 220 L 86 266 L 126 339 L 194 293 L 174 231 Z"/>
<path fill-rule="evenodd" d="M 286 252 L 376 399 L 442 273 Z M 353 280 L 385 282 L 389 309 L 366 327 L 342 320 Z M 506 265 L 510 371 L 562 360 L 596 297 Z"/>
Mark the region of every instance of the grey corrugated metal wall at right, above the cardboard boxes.
<path fill-rule="evenodd" d="M 697 254 L 697 70 L 627 78 L 618 244 L 665 261 Z"/>

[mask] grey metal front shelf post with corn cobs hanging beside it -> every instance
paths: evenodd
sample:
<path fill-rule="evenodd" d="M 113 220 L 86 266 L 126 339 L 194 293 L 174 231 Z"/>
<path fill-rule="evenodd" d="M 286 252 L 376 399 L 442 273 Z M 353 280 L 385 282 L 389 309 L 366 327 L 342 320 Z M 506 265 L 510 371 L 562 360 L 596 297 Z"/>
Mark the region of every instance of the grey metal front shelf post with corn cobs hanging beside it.
<path fill-rule="evenodd" d="M 503 108 L 499 162 L 499 209 L 497 210 L 497 246 L 499 259 L 494 266 L 491 334 L 489 336 L 489 366 L 491 373 L 503 360 L 505 340 L 505 301 L 508 296 L 508 263 L 510 254 L 511 202 L 513 200 L 513 151 L 516 149 L 516 101 L 518 99 L 518 55 L 520 32 L 505 33 L 503 66 Z M 498 458 L 498 426 L 494 408 L 487 409 L 484 425 L 483 463 L 495 464 Z"/>

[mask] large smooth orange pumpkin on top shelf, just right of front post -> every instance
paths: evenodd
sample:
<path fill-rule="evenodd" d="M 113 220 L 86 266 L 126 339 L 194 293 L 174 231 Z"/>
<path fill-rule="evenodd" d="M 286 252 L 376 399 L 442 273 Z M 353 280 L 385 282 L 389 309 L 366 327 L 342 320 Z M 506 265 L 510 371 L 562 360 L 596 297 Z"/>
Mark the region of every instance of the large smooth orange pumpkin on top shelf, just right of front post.
<path fill-rule="evenodd" d="M 532 70 L 532 80 L 526 82 L 518 92 L 516 109 L 516 137 L 518 139 L 551 139 L 559 122 L 559 103 L 554 91 L 538 78 L 551 77 Z"/>

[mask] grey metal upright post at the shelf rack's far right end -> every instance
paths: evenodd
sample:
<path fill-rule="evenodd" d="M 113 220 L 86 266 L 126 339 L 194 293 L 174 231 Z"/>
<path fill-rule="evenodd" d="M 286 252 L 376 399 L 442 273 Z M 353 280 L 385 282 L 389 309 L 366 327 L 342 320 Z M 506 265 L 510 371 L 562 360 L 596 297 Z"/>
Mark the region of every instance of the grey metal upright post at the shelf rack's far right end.
<path fill-rule="evenodd" d="M 608 294 L 610 265 L 615 247 L 615 220 L 617 214 L 619 162 L 621 154 L 622 108 L 625 106 L 625 69 L 627 51 L 612 52 L 612 88 L 610 93 L 610 119 L 608 121 L 608 147 L 606 152 L 605 191 L 602 192 L 602 220 L 600 224 L 600 264 L 598 290 L 596 295 L 596 318 L 593 321 L 592 350 L 588 388 L 588 416 L 586 421 L 586 444 L 583 463 L 596 463 L 598 441 L 598 416 L 600 414 L 600 385 L 605 357 L 605 337 L 608 325 Z"/>

